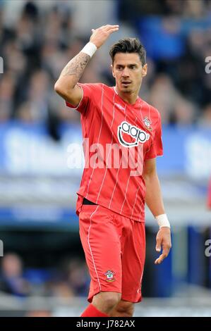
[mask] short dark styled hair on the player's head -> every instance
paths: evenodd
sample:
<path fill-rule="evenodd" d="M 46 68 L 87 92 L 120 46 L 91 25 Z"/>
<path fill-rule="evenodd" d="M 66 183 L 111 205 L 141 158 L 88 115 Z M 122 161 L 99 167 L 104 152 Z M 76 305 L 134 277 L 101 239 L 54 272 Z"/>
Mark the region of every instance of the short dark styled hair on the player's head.
<path fill-rule="evenodd" d="M 116 53 L 137 53 L 140 57 L 142 65 L 146 63 L 146 51 L 143 44 L 140 43 L 138 38 L 126 38 L 116 42 L 109 51 L 109 54 L 114 63 L 114 56 Z"/>

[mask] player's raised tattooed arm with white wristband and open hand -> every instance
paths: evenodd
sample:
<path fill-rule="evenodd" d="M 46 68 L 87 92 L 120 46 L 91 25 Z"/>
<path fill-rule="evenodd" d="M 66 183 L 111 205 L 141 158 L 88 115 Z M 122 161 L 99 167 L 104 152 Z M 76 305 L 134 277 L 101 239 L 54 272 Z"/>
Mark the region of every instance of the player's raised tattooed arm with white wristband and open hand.
<path fill-rule="evenodd" d="M 106 42 L 111 33 L 119 30 L 119 25 L 104 25 L 96 30 L 92 29 L 90 42 L 77 54 L 61 71 L 59 79 L 54 85 L 56 93 L 73 106 L 78 106 L 82 99 L 82 89 L 77 85 L 92 54 Z"/>

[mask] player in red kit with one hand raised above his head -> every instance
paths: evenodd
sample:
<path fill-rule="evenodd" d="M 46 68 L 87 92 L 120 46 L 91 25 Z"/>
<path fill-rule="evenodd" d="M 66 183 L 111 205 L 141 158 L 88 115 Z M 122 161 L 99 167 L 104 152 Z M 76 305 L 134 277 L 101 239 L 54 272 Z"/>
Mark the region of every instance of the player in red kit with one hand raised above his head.
<path fill-rule="evenodd" d="M 55 91 L 80 112 L 85 168 L 76 212 L 90 271 L 89 306 L 83 317 L 131 317 L 141 301 L 145 263 L 145 202 L 159 225 L 156 250 L 162 263 L 171 249 L 156 170 L 162 155 L 159 111 L 138 93 L 147 74 L 145 49 L 137 38 L 110 49 L 115 87 L 80 84 L 97 49 L 119 25 L 92 30 L 90 42 L 62 70 Z"/>

